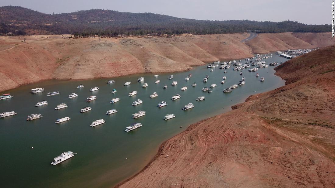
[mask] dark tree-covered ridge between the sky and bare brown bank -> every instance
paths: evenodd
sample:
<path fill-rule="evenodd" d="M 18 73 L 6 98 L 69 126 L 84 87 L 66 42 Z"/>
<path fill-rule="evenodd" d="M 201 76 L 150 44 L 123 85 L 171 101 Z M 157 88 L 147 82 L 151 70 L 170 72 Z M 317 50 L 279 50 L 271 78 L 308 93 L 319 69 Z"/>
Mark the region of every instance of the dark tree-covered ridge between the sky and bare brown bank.
<path fill-rule="evenodd" d="M 224 19 L 224 14 L 222 15 Z M 220 34 L 238 32 L 330 32 L 330 25 L 307 25 L 295 21 L 210 21 L 177 18 L 153 13 L 130 13 L 91 9 L 45 14 L 18 6 L 0 7 L 0 35 L 24 35 L 27 29 L 76 36 L 136 36 L 148 34 Z"/>

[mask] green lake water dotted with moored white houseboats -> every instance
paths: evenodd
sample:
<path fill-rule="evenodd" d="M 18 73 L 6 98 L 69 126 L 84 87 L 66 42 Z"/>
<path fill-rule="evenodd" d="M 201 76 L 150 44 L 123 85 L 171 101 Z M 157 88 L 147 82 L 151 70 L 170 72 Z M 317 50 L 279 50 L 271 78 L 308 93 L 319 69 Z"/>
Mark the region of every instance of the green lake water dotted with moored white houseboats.
<path fill-rule="evenodd" d="M 265 59 L 270 62 L 281 62 L 287 59 L 273 55 Z M 242 60 L 242 63 L 246 61 Z M 252 66 L 251 66 L 252 67 Z M 6 91 L 14 96 L 11 99 L 0 101 L 0 112 L 15 111 L 15 116 L 0 119 L 0 185 L 1 187 L 111 187 L 120 181 L 129 178 L 140 171 L 156 154 L 160 144 L 207 117 L 212 117 L 231 110 L 231 106 L 244 102 L 247 97 L 255 93 L 265 92 L 284 85 L 284 80 L 274 75 L 274 66 L 260 68 L 257 72 L 240 71 L 219 67 L 214 71 L 206 66 L 195 67 L 188 72 L 173 73 L 172 80 L 167 79 L 171 73 L 137 74 L 113 78 L 115 83 L 107 84 L 105 79 L 91 79 L 84 81 L 48 80 L 39 83 L 24 85 Z M 189 74 L 193 77 L 185 81 Z M 259 73 L 259 77 L 256 77 Z M 207 83 L 202 80 L 209 75 Z M 223 76 L 226 82 L 221 84 Z M 144 77 L 143 82 L 137 82 L 138 77 Z M 242 77 L 246 77 L 246 84 L 233 89 L 230 93 L 223 93 L 225 87 L 237 84 Z M 260 77 L 265 77 L 260 82 Z M 160 83 L 154 83 L 160 80 Z M 125 82 L 131 85 L 123 86 Z M 171 86 L 178 81 L 176 86 Z M 197 82 L 196 87 L 192 83 Z M 143 83 L 149 86 L 142 88 Z M 213 92 L 202 92 L 205 86 L 217 84 Z M 83 84 L 83 88 L 76 88 Z M 167 89 L 163 85 L 167 84 Z M 181 91 L 187 86 L 188 89 Z M 30 93 L 30 89 L 44 87 L 45 92 Z M 92 87 L 99 87 L 97 91 L 90 92 Z M 116 93 L 111 93 L 116 88 Z M 59 90 L 60 94 L 46 96 L 47 92 Z M 129 97 L 128 93 L 137 91 L 137 95 Z M 78 97 L 69 99 L 72 92 Z M 157 92 L 158 97 L 150 99 L 151 93 Z M 172 101 L 175 94 L 181 99 Z M 95 101 L 86 103 L 89 96 L 97 96 Z M 196 101 L 199 96 L 205 96 L 204 101 Z M 121 101 L 111 104 L 112 98 Z M 142 104 L 132 106 L 136 99 Z M 48 101 L 48 105 L 35 107 L 41 100 Z M 161 101 L 167 106 L 158 108 Z M 56 105 L 66 103 L 69 107 L 54 110 Z M 195 108 L 183 111 L 184 105 L 193 103 Z M 91 111 L 80 113 L 85 106 Z M 106 115 L 106 112 L 116 109 L 119 112 Z M 144 110 L 146 115 L 133 119 L 132 114 Z M 29 114 L 42 114 L 42 118 L 26 121 Z M 166 114 L 175 114 L 176 118 L 164 121 Z M 71 120 L 55 124 L 56 119 L 70 117 Z M 93 120 L 105 119 L 106 123 L 90 127 Z M 125 132 L 129 125 L 140 122 L 143 124 L 131 132 Z M 182 128 L 180 128 L 182 126 Z M 32 148 L 34 147 L 34 148 Z M 51 165 L 53 158 L 63 152 L 77 153 L 73 158 L 58 164 Z M 126 159 L 128 158 L 128 159 Z"/>

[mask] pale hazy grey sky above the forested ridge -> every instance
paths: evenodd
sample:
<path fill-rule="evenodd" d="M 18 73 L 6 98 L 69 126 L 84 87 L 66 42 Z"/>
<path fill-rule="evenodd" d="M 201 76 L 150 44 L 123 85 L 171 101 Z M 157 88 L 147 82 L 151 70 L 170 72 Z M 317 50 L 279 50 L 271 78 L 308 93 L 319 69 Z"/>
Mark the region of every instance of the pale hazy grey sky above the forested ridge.
<path fill-rule="evenodd" d="M 331 24 L 331 0 L 0 0 L 0 6 L 5 5 L 49 14 L 96 8 L 201 20 L 292 20 Z"/>

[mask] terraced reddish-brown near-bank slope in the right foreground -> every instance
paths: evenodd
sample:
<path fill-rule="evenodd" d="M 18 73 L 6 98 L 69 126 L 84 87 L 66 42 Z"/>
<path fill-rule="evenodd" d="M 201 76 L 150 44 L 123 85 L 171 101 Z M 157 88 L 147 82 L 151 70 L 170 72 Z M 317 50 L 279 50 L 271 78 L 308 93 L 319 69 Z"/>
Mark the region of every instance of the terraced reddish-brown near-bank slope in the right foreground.
<path fill-rule="evenodd" d="M 283 63 L 277 74 L 289 84 L 191 125 L 119 186 L 334 187 L 335 71 L 322 72 L 334 52 Z M 311 67 L 317 58 L 326 63 Z"/>

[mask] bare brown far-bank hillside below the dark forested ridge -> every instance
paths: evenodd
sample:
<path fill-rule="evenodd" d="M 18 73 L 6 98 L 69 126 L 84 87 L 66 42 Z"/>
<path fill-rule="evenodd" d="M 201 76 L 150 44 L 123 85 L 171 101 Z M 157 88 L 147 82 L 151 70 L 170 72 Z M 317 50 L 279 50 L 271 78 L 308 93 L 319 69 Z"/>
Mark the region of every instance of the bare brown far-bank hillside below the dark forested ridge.
<path fill-rule="evenodd" d="M 101 38 L 100 42 L 69 36 L 0 37 L 0 91 L 45 79 L 186 71 L 208 61 L 251 57 L 252 51 L 313 48 L 291 33 L 260 34 L 247 42 L 249 46 L 241 42 L 247 33 Z M 21 42 L 24 38 L 26 42 Z"/>

